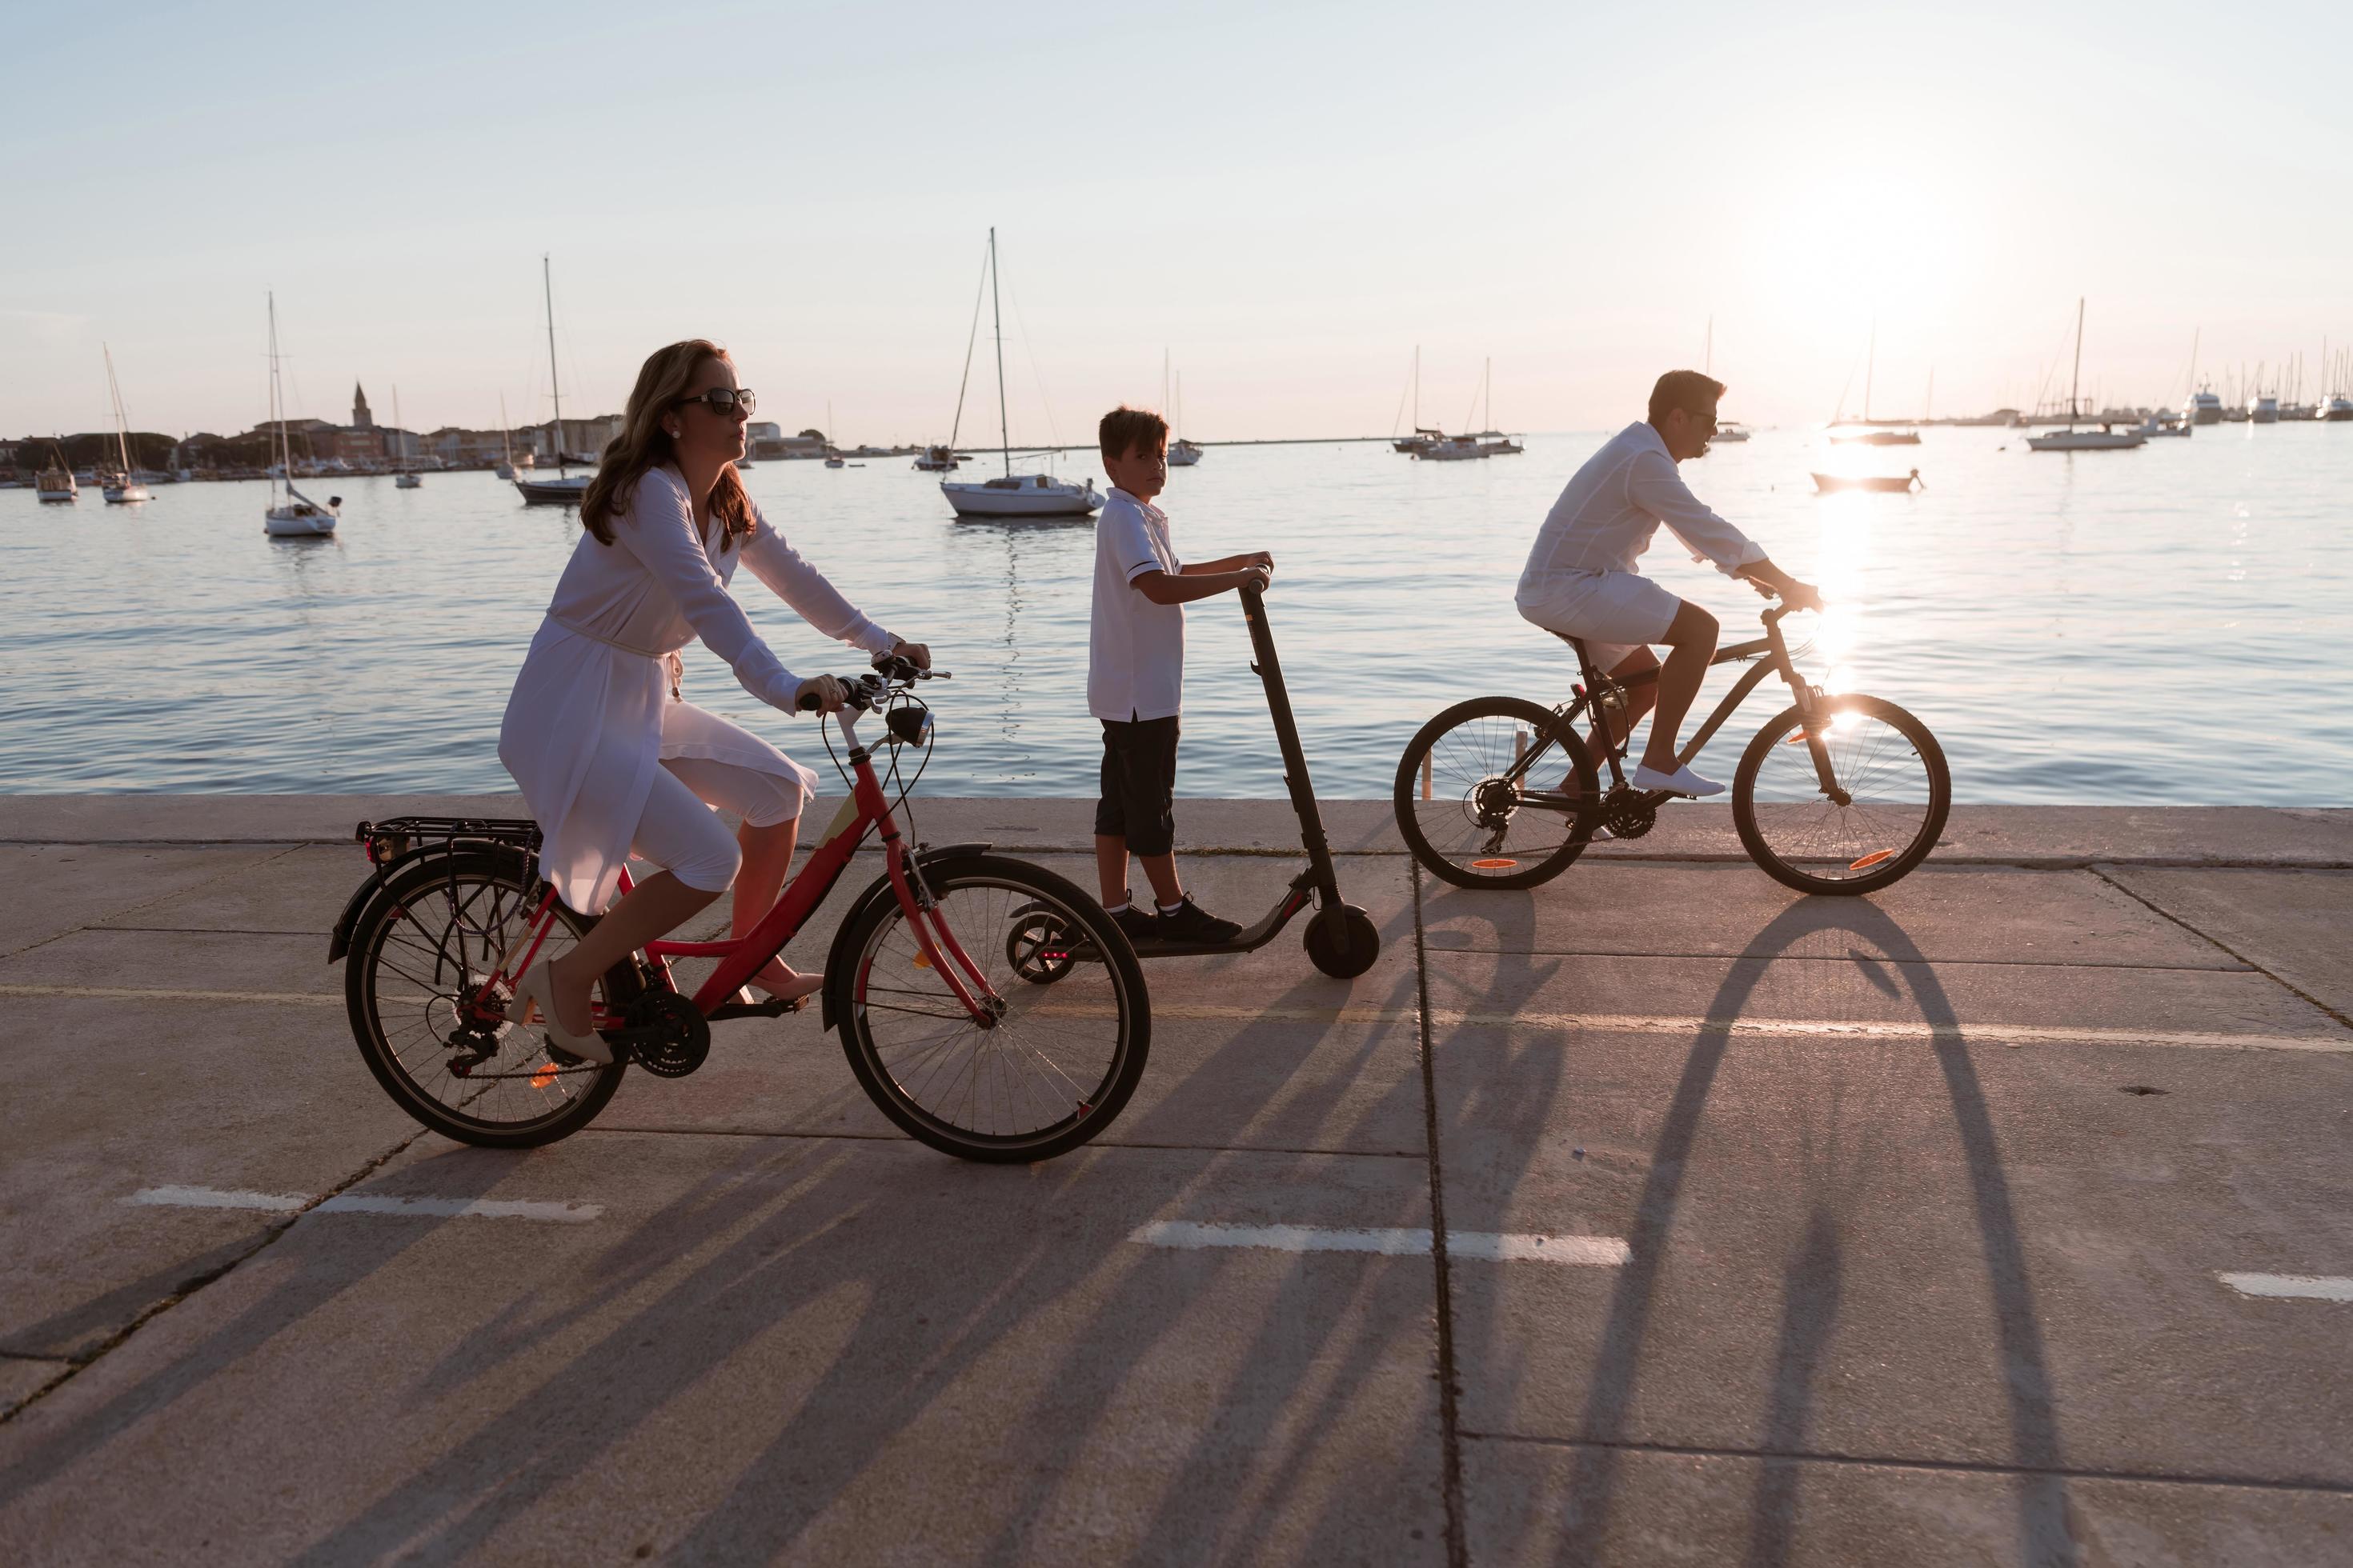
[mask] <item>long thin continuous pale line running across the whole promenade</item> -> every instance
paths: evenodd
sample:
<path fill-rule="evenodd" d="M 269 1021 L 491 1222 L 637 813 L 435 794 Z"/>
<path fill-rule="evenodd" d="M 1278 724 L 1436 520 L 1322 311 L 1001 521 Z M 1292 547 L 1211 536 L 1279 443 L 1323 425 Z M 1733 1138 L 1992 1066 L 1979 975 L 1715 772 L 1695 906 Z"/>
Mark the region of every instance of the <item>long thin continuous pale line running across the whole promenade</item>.
<path fill-rule="evenodd" d="M 271 1001 L 285 1006 L 344 1006 L 344 992 L 214 992 L 146 990 L 136 985 L 24 985 L 0 983 L 0 997 L 66 997 L 82 1001 Z M 1108 1018 L 1108 1006 L 1092 1001 L 1047 1001 L 1033 1009 L 1040 1018 Z M 1155 1001 L 1155 1018 L 1195 1023 L 1414 1023 L 1419 1013 L 1393 1006 L 1221 1006 L 1209 1001 Z M 1852 1023 L 1845 1018 L 1699 1018 L 1685 1013 L 1464 1013 L 1433 1009 L 1431 1025 L 1471 1030 L 1546 1030 L 1567 1034 L 1765 1034 L 1828 1037 L 1885 1041 L 2005 1044 L 2045 1046 L 2177 1046 L 2188 1051 L 2320 1051 L 2353 1056 L 2353 1034 L 2219 1034 L 2198 1030 L 2092 1030 L 2038 1023 Z"/>

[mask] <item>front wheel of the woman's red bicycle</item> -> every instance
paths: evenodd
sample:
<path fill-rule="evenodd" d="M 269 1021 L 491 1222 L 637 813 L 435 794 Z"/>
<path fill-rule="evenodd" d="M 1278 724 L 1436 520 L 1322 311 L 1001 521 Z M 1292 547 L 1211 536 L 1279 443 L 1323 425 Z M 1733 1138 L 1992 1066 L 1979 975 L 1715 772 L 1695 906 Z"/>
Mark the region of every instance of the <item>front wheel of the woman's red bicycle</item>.
<path fill-rule="evenodd" d="M 922 879 L 934 931 L 988 985 L 986 1016 L 951 990 L 941 964 L 974 987 L 946 943 L 934 964 L 899 900 L 878 898 L 826 976 L 849 1070 L 885 1117 L 946 1154 L 1007 1164 L 1075 1150 L 1120 1114 L 1151 1053 L 1134 947 L 1101 903 L 1024 860 L 929 860 Z M 1019 969 L 1042 926 L 1085 954 L 1056 985 Z"/>

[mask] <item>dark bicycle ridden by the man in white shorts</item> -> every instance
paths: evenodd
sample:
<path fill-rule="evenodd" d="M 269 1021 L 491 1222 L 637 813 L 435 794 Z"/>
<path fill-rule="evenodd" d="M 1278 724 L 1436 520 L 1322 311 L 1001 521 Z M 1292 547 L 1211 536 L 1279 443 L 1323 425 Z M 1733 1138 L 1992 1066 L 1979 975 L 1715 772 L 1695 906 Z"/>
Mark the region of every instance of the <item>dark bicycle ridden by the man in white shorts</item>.
<path fill-rule="evenodd" d="M 1927 724 L 1875 696 L 1807 684 L 1781 637 L 1788 604 L 1760 618 L 1765 635 L 1720 649 L 1713 663 L 1760 661 L 1732 684 L 1680 762 L 1722 729 L 1767 675 L 1795 698 L 1755 733 L 1732 773 L 1732 825 L 1769 877 L 1802 893 L 1873 893 L 1937 849 L 1953 809 L 1953 773 Z M 1609 788 L 1584 729 L 1626 712 L 1628 691 L 1659 679 L 1595 670 L 1577 637 L 1584 684 L 1558 708 L 1515 696 L 1475 696 L 1414 733 L 1398 762 L 1398 832 L 1433 877 L 1454 886 L 1532 889 L 1569 867 L 1598 827 L 1640 839 L 1659 806 L 1680 799 L 1635 790 L 1607 750 Z"/>

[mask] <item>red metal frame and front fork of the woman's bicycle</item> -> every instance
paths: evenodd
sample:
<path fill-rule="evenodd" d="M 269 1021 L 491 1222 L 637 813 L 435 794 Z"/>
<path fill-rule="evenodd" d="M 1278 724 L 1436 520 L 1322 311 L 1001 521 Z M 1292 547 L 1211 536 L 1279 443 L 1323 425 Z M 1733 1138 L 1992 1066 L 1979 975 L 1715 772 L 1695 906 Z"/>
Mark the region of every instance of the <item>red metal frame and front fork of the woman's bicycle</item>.
<path fill-rule="evenodd" d="M 889 870 L 892 893 L 899 898 L 899 907 L 906 912 L 908 929 L 915 933 L 922 957 L 932 964 L 932 971 L 948 983 L 955 999 L 972 1013 L 974 1023 L 984 1027 L 993 1018 L 991 1004 L 998 1001 L 981 973 L 981 966 L 955 940 L 948 924 L 939 919 L 939 910 L 932 900 L 932 891 L 922 884 L 922 870 L 915 865 L 915 856 L 908 853 L 906 839 L 899 835 L 899 823 L 892 816 L 889 799 L 882 795 L 882 785 L 875 780 L 873 755 L 856 741 L 856 717 L 854 710 L 845 708 L 835 715 L 842 741 L 849 745 L 849 799 L 833 813 L 826 825 L 826 842 L 816 846 L 800 875 L 793 877 L 776 905 L 760 917 L 760 924 L 751 929 L 748 936 L 729 938 L 720 943 L 673 943 L 654 940 L 640 952 L 647 959 L 649 978 L 659 990 L 675 992 L 678 985 L 671 978 L 668 959 L 718 959 L 718 969 L 711 978 L 701 983 L 694 992 L 694 1009 L 704 1018 L 729 1018 L 741 1013 L 727 1013 L 736 990 L 751 980 L 772 957 L 776 957 L 788 940 L 800 931 L 800 926 L 816 912 L 816 905 L 826 900 L 833 884 L 849 867 L 849 856 L 856 853 L 859 844 L 866 842 L 871 830 L 882 835 L 882 853 Z M 633 886 L 628 867 L 621 867 L 619 893 L 628 893 Z M 508 994 L 513 992 L 511 976 L 522 976 L 529 971 L 539 947 L 546 943 L 548 933 L 555 929 L 555 889 L 551 886 L 539 907 L 532 912 L 532 936 L 522 952 L 522 959 L 508 964 L 501 959 L 496 971 L 485 978 L 482 990 L 475 992 L 478 1009 L 496 1009 L 494 987 L 506 983 Z M 621 1027 L 621 1016 L 605 1004 L 595 1006 L 598 1030 Z"/>

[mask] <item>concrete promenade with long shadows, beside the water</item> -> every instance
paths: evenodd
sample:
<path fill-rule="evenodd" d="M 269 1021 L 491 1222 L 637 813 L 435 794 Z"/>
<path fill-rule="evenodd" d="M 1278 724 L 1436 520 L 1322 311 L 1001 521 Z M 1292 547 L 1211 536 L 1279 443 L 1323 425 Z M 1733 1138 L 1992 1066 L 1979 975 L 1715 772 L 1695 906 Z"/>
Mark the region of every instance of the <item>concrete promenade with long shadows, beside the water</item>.
<path fill-rule="evenodd" d="M 918 827 L 1085 886 L 1089 806 Z M 1960 809 L 1840 900 L 1334 802 L 1372 973 L 1153 964 L 1120 1121 L 981 1168 L 814 1013 L 421 1133 L 325 961 L 419 809 L 518 813 L 0 799 L 0 1561 L 2353 1563 L 2353 811 Z M 1245 919 L 1297 853 L 1179 835 Z"/>

